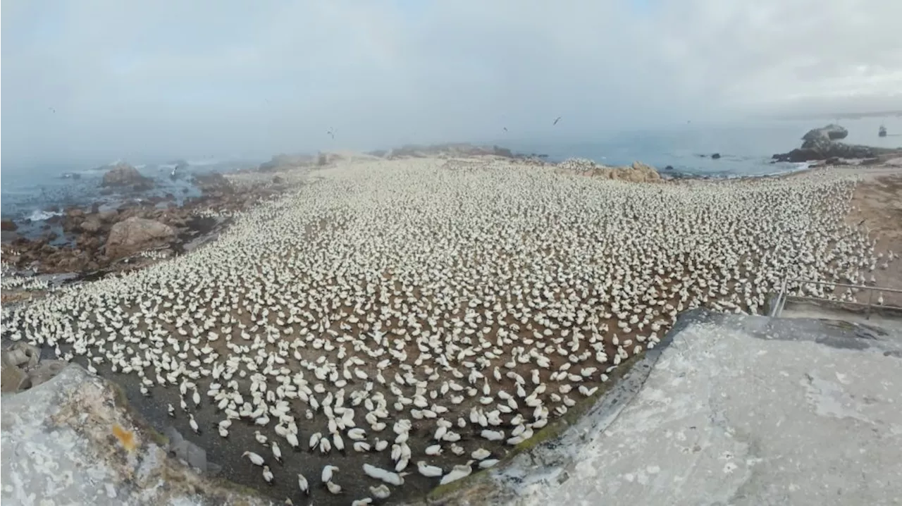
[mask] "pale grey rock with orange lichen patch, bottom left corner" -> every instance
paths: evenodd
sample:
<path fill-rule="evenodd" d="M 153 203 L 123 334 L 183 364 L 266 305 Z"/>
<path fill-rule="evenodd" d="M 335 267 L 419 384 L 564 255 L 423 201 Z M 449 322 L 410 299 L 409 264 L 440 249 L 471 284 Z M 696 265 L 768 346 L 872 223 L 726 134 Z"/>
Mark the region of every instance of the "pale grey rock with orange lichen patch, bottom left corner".
<path fill-rule="evenodd" d="M 0 504 L 271 503 L 170 458 L 121 391 L 78 365 L 0 395 L 0 428 Z"/>

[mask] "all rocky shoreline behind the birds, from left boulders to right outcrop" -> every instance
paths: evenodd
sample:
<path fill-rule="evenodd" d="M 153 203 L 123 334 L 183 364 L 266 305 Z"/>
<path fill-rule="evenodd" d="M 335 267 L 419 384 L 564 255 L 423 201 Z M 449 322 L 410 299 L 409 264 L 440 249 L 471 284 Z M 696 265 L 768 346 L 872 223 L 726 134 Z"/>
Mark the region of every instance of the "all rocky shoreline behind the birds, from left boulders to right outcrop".
<path fill-rule="evenodd" d="M 848 134 L 839 125 L 817 128 L 803 137 L 802 148 L 778 153 L 774 161 L 815 161 L 815 165 L 869 164 L 902 152 L 838 142 Z M 196 175 L 192 182 L 200 196 L 184 198 L 180 205 L 173 195 L 131 198 L 115 208 L 91 206 L 51 209 L 56 216 L 45 221 L 40 236 L 17 233 L 13 220 L 0 219 L 0 278 L 2 271 L 20 276 L 66 274 L 69 280 L 97 278 L 113 271 L 128 271 L 161 258 L 185 253 L 204 237 L 217 235 L 230 222 L 230 215 L 287 188 L 286 173 L 325 168 L 345 159 L 347 154 L 320 152 L 316 155 L 279 154 L 250 170 L 229 175 Z M 446 159 L 498 157 L 584 176 L 624 179 L 636 182 L 710 179 L 679 173 L 667 166 L 654 169 L 640 162 L 626 167 L 607 167 L 594 161 L 568 159 L 559 163 L 547 155 L 519 154 L 499 146 L 445 143 L 408 145 L 383 152 L 360 155 L 373 160 L 437 157 Z M 851 159 L 851 160 L 850 160 Z M 813 165 L 813 166 L 815 166 Z M 175 170 L 173 170 L 173 177 Z M 153 189 L 153 179 L 144 177 L 125 163 L 107 170 L 100 184 L 103 190 L 124 190 L 135 197 Z M 55 229 L 55 230 L 54 230 Z M 58 232 L 61 230 L 61 233 Z M 7 273 L 8 275 L 8 273 Z M 2 295 L 3 287 L 0 287 Z"/>

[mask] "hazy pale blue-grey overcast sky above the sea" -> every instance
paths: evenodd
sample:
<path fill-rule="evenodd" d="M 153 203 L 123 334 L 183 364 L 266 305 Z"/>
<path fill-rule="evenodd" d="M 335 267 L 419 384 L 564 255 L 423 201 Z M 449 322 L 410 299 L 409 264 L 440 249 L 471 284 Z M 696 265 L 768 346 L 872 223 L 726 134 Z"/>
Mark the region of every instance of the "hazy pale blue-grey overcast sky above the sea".
<path fill-rule="evenodd" d="M 902 108 L 900 21 L 897 0 L 0 0 L 0 158 L 268 157 Z"/>

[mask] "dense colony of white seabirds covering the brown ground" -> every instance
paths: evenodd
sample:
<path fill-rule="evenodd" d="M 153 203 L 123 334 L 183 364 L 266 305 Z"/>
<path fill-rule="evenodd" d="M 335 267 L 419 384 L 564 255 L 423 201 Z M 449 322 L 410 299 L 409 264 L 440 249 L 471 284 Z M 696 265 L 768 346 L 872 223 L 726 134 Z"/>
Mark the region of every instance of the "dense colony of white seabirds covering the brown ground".
<path fill-rule="evenodd" d="M 178 389 L 170 415 L 195 432 L 253 431 L 244 471 L 361 506 L 405 479 L 492 467 L 682 310 L 760 313 L 786 276 L 873 281 L 893 257 L 844 224 L 854 184 L 349 163 L 237 216 L 213 245 L 0 308 L 0 336 L 137 375 L 145 395 Z M 196 419 L 202 404 L 218 418 Z M 316 454 L 365 463 L 273 465 Z"/>

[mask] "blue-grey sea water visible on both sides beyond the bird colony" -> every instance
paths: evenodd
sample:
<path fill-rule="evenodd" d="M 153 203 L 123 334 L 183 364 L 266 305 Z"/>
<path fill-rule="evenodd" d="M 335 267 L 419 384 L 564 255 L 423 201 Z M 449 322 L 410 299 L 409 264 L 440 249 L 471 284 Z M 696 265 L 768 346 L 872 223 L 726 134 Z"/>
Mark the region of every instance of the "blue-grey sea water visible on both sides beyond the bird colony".
<path fill-rule="evenodd" d="M 563 121 L 566 121 L 564 118 Z M 902 117 L 869 117 L 835 120 L 849 130 L 844 142 L 872 146 L 902 146 Z M 666 129 L 598 133 L 592 138 L 575 140 L 566 137 L 523 140 L 503 137 L 493 143 L 514 152 L 543 153 L 551 161 L 571 157 L 588 158 L 605 165 L 627 165 L 642 161 L 664 174 L 687 174 L 711 177 L 762 176 L 799 170 L 804 164 L 770 163 L 776 152 L 788 152 L 801 144 L 801 137 L 811 128 L 831 123 L 829 119 L 805 121 L 769 121 L 740 125 L 686 123 Z M 877 135 L 881 124 L 889 135 Z M 720 159 L 713 159 L 713 153 Z M 261 160 L 262 161 L 262 160 Z M 142 162 L 129 160 L 144 176 L 155 180 L 156 188 L 144 197 L 172 194 L 179 204 L 199 192 L 191 184 L 191 176 L 210 171 L 227 172 L 254 167 L 261 161 L 188 160 L 188 166 L 170 177 L 175 162 Z M 672 167 L 665 170 L 667 166 Z M 101 207 L 116 207 L 133 196 L 101 192 L 100 182 L 106 166 L 44 165 L 9 166 L 0 160 L 0 217 L 10 217 L 20 226 L 40 225 L 43 220 L 69 206 L 87 206 L 99 202 Z M 64 174 L 78 174 L 78 179 Z"/>

